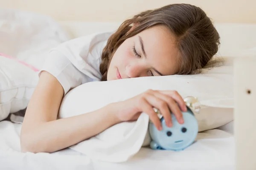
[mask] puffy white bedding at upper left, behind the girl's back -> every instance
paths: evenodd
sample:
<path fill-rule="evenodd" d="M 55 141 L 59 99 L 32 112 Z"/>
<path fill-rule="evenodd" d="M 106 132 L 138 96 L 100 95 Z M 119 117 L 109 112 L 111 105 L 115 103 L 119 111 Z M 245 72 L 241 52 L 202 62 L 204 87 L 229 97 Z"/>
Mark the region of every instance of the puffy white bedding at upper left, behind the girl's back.
<path fill-rule="evenodd" d="M 50 49 L 70 39 L 52 18 L 0 8 L 0 52 L 41 69 Z"/>

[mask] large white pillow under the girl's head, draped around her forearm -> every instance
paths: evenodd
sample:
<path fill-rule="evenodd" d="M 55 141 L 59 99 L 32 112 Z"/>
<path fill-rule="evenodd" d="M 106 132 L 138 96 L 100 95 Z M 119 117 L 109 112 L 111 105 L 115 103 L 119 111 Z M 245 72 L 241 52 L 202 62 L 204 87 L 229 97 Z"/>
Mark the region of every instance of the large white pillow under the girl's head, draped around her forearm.
<path fill-rule="evenodd" d="M 201 102 L 201 112 L 195 115 L 199 131 L 213 129 L 233 120 L 232 64 L 232 59 L 226 59 L 223 66 L 204 74 L 85 83 L 64 96 L 58 116 L 65 118 L 95 111 L 109 103 L 129 99 L 147 89 L 176 90 L 183 98 L 196 96 Z M 148 125 L 148 117 L 145 115 L 143 113 L 137 122 L 114 125 L 70 148 L 103 161 L 126 161 L 140 147 L 150 142 L 148 131 L 145 131 Z"/>

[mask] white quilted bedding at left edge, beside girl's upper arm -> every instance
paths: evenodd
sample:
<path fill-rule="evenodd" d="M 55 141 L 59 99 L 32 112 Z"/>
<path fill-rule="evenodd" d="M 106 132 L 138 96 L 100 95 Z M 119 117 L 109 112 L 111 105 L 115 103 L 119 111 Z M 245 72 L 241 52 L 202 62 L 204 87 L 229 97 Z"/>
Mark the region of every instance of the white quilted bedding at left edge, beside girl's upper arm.
<path fill-rule="evenodd" d="M 27 107 L 37 82 L 32 66 L 0 55 L 0 121 Z"/>

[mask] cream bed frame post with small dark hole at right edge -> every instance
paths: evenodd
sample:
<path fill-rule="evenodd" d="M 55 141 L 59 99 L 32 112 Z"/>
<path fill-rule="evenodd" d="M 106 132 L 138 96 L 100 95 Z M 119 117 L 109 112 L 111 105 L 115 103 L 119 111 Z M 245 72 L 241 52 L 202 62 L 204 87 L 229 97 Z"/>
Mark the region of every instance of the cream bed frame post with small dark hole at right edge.
<path fill-rule="evenodd" d="M 234 136 L 236 170 L 255 170 L 256 56 L 234 61 Z M 254 57 L 253 57 L 254 56 Z"/>

